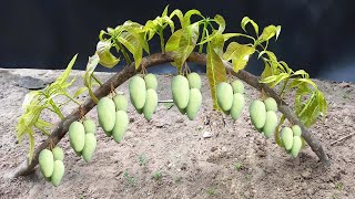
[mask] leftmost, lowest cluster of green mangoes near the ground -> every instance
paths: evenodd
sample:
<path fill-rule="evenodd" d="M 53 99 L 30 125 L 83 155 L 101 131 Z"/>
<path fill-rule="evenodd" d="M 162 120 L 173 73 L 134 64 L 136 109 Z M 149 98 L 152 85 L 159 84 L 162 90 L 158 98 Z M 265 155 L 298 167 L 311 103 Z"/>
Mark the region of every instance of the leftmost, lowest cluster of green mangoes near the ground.
<path fill-rule="evenodd" d="M 53 186 L 59 186 L 64 175 L 64 153 L 55 146 L 52 150 L 43 149 L 39 155 L 39 165 L 42 175 L 47 181 L 51 181 Z"/>

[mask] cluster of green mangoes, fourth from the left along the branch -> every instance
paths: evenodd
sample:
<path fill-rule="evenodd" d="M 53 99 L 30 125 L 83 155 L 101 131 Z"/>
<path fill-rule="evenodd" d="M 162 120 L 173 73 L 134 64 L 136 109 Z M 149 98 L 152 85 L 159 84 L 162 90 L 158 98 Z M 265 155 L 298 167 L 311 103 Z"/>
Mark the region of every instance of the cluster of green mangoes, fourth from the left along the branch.
<path fill-rule="evenodd" d="M 139 114 L 144 114 L 150 121 L 158 106 L 158 80 L 154 74 L 146 74 L 144 78 L 135 75 L 129 84 L 132 105 Z"/>

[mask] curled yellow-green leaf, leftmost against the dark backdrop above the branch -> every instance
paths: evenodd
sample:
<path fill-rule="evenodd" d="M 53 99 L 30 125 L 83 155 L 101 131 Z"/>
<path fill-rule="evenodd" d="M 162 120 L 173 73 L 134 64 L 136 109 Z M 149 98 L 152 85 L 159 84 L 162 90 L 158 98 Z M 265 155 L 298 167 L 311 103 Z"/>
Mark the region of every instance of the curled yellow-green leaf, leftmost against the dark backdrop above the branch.
<path fill-rule="evenodd" d="M 116 59 L 111 52 L 112 44 L 111 41 L 105 40 L 105 41 L 99 41 L 97 45 L 97 54 L 100 57 L 100 64 L 104 67 L 112 69 L 119 62 L 120 59 Z"/>

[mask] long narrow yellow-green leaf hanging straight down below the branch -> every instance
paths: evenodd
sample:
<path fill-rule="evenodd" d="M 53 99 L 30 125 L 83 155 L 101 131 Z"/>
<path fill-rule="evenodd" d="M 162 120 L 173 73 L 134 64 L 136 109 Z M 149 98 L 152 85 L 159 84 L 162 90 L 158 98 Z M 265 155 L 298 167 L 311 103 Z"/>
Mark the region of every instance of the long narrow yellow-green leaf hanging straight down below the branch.
<path fill-rule="evenodd" d="M 213 101 L 213 108 L 221 109 L 216 101 L 216 86 L 221 82 L 226 82 L 226 71 L 223 65 L 222 59 L 213 50 L 213 43 L 207 44 L 207 57 L 206 57 L 206 75 L 209 77 L 211 96 Z"/>

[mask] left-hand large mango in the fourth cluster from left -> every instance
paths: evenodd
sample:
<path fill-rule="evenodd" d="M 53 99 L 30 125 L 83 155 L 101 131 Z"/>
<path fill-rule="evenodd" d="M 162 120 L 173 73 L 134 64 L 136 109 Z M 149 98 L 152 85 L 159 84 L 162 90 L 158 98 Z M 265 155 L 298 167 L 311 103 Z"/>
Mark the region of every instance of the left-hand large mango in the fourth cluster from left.
<path fill-rule="evenodd" d="M 145 81 L 138 75 L 133 76 L 130 81 L 129 90 L 131 103 L 135 109 L 143 108 L 146 96 Z"/>

